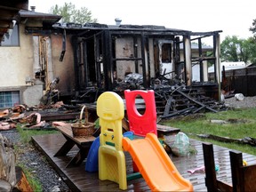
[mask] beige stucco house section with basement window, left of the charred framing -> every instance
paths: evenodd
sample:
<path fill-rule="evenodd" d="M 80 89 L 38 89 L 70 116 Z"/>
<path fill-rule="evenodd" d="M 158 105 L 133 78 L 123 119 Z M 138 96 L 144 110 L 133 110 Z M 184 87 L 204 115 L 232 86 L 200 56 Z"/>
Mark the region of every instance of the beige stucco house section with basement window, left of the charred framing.
<path fill-rule="evenodd" d="M 52 28 L 59 15 L 22 10 L 12 33 L 4 35 L 0 46 L 0 108 L 15 104 L 38 105 L 55 77 L 57 89 L 70 95 L 74 89 L 73 52 L 60 61 L 62 34 Z M 67 37 L 69 38 L 69 37 Z M 70 41 L 66 44 L 70 49 Z"/>

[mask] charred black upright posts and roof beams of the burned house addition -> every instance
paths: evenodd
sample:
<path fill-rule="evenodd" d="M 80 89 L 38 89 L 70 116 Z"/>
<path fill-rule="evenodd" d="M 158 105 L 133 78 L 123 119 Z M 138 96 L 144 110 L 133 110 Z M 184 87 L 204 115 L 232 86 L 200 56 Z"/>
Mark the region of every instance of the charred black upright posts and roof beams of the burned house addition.
<path fill-rule="evenodd" d="M 72 29 L 70 29 L 72 30 Z M 83 29 L 80 29 L 83 30 Z M 74 67 L 76 70 L 76 91 L 88 92 L 88 89 L 99 89 L 100 91 L 114 90 L 114 72 L 116 70 L 116 62 L 120 60 L 129 60 L 134 62 L 135 73 L 139 73 L 139 62 L 141 62 L 143 86 L 145 89 L 150 88 L 150 79 L 152 73 L 150 62 L 150 52 L 148 52 L 148 39 L 165 39 L 173 41 L 173 61 L 175 66 L 184 65 L 185 69 L 185 83 L 193 85 L 191 80 L 191 68 L 186 64 L 188 62 L 200 64 L 200 81 L 203 82 L 203 67 L 204 60 L 212 60 L 216 68 L 216 49 L 219 33 L 221 31 L 213 32 L 191 32 L 185 30 L 166 29 L 166 28 L 133 28 L 133 26 L 120 26 L 119 28 L 85 28 L 82 32 L 73 35 L 74 54 L 77 56 L 74 60 Z M 115 39 L 120 37 L 132 37 L 134 52 L 130 58 L 116 57 Z M 191 38 L 191 36 L 197 36 Z M 212 36 L 213 49 L 212 56 L 202 55 L 202 38 Z M 181 41 L 180 41 L 181 38 Z M 185 43 L 188 41 L 197 40 L 199 55 L 196 58 L 186 56 L 189 54 L 191 47 Z M 136 44 L 140 42 L 140 49 Z M 79 45 L 80 44 L 80 45 Z M 82 44 L 82 45 L 81 45 Z M 180 49 L 180 44 L 183 44 L 183 49 Z M 82 50 L 81 50 L 82 49 Z M 219 49 L 219 48 L 218 48 Z M 180 51 L 183 52 L 184 60 L 180 60 Z M 139 54 L 138 54 L 139 53 Z M 140 55 L 140 56 L 139 56 Z M 81 60 L 81 58 L 83 60 Z M 146 63 L 145 60 L 148 60 Z M 83 68 L 83 70 L 81 69 Z M 175 73 L 178 73 L 175 68 Z M 215 70 L 217 72 L 217 70 Z M 93 75 L 92 75 L 93 74 Z M 156 77 L 156 76 L 154 76 Z M 218 74 L 215 73 L 215 82 L 218 83 Z"/>

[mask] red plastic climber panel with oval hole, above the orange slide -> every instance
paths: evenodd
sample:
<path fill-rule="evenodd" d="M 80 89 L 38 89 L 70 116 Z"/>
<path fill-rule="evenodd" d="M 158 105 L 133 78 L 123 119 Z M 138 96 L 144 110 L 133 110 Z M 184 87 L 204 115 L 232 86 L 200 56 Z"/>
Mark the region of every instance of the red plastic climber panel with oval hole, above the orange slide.
<path fill-rule="evenodd" d="M 140 95 L 145 101 L 145 112 L 141 115 L 136 108 L 135 100 Z M 156 131 L 156 101 L 153 90 L 125 90 L 124 97 L 126 100 L 126 111 L 130 124 L 130 131 L 135 135 L 146 137 L 148 132 L 153 132 L 157 136 Z"/>

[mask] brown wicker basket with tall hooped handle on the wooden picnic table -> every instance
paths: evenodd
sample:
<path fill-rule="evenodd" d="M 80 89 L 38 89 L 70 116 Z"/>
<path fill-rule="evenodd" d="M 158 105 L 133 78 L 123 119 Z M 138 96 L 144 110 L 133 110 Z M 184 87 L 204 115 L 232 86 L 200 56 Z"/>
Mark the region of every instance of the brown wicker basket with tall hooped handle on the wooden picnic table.
<path fill-rule="evenodd" d="M 84 108 L 85 108 L 85 118 L 84 118 L 85 120 L 83 124 L 82 119 L 83 119 Z M 73 132 L 73 137 L 86 137 L 86 136 L 91 136 L 94 133 L 94 124 L 88 122 L 88 110 L 85 105 L 81 110 L 79 122 L 75 124 L 71 124 L 71 128 Z"/>

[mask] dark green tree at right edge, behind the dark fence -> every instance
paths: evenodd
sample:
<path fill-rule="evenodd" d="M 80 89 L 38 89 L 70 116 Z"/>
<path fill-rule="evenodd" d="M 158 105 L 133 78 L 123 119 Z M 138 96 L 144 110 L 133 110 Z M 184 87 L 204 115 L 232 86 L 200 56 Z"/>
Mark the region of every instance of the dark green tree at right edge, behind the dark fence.
<path fill-rule="evenodd" d="M 237 36 L 227 36 L 220 44 L 220 58 L 222 61 L 249 61 L 256 59 L 256 44 L 253 37 L 239 39 Z"/>

